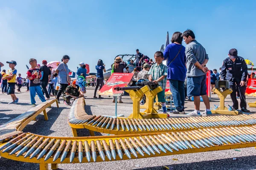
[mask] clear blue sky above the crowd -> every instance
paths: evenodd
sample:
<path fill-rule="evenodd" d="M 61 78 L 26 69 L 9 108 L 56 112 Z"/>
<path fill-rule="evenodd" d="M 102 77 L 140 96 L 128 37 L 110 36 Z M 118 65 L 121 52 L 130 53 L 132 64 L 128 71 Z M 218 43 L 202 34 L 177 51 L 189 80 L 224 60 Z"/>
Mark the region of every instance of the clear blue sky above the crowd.
<path fill-rule="evenodd" d="M 187 28 L 209 54 L 209 69 L 230 48 L 256 62 L 256 0 L 0 0 L 0 61 L 15 60 L 24 76 L 30 58 L 67 54 L 71 70 L 83 61 L 93 72 L 98 59 L 110 68 L 137 48 L 153 58 L 167 31 L 171 39 Z"/>

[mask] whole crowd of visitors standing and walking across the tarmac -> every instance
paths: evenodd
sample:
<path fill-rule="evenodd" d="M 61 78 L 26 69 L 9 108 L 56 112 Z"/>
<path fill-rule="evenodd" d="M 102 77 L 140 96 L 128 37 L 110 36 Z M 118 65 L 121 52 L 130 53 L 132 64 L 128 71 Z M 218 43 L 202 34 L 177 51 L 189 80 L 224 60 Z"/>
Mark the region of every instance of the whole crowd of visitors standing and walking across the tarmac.
<path fill-rule="evenodd" d="M 186 43 L 186 48 L 182 45 L 183 40 Z M 133 77 L 129 85 L 136 85 L 136 82 L 140 79 L 148 79 L 159 84 L 163 91 L 157 94 L 158 102 L 162 104 L 163 113 L 167 113 L 165 89 L 166 82 L 169 81 L 175 105 L 175 110 L 170 111 L 170 113 L 184 114 L 185 99 L 191 100 L 191 96 L 193 96 L 195 110 L 188 113 L 188 115 L 207 116 L 211 114 L 206 86 L 206 74 L 208 72 L 206 65 L 209 57 L 205 48 L 195 40 L 195 34 L 192 30 L 186 30 L 183 33 L 175 32 L 172 35 L 171 42 L 171 44 L 166 46 L 164 52 L 157 51 L 154 54 L 154 61 L 140 53 L 139 49 L 136 50 L 135 63 L 134 60 L 130 61 L 131 65 L 136 65 L 136 68 L 131 72 Z M 228 80 L 230 88 L 233 90 L 230 95 L 233 101 L 232 108 L 234 110 L 239 108 L 238 96 L 241 100 L 241 111 L 250 112 L 246 108 L 245 99 L 246 81 L 248 79 L 247 65 L 244 59 L 238 56 L 235 48 L 230 49 L 228 56 L 224 59 L 222 67 L 219 68 L 220 72 L 217 69 L 210 71 L 211 89 L 215 87 L 216 80 Z M 163 60 L 166 59 L 167 65 L 164 65 Z M 71 98 L 76 99 L 77 97 L 84 96 L 86 87 L 96 86 L 93 98 L 102 99 L 102 96 L 96 96 L 98 88 L 100 90 L 105 82 L 103 72 L 106 72 L 106 69 L 102 59 L 99 59 L 95 67 L 97 71 L 96 78 L 91 78 L 90 80 L 86 80 L 86 65 L 84 62 L 80 62 L 80 67 L 76 71 L 78 77 L 73 82 L 71 82 L 69 77 L 70 69 L 67 65 L 69 60 L 70 57 L 64 55 L 58 67 L 52 70 L 51 66 L 47 66 L 46 60 L 43 60 L 42 65 L 40 65 L 36 59 L 29 59 L 31 68 L 28 69 L 26 78 L 22 78 L 21 74 L 16 76 L 17 70 L 15 66 L 17 63 L 14 60 L 7 61 L 6 63 L 9 63 L 10 69 L 7 72 L 3 70 L 0 75 L 3 79 L 2 93 L 10 94 L 12 97 L 12 102 L 9 102 L 9 104 L 17 103 L 19 99 L 15 95 L 15 85 L 17 85 L 17 91 L 20 91 L 22 86 L 27 85 L 32 107 L 35 107 L 36 94 L 42 102 L 50 99 L 51 96 L 57 98 L 59 102 L 59 98 L 63 94 L 64 104 L 71 105 Z M 0 62 L 0 67 L 3 67 L 2 62 Z M 114 59 L 111 69 L 111 73 L 130 73 L 127 63 L 122 61 L 121 57 Z M 213 94 L 214 92 L 211 91 L 211 93 Z M 206 107 L 203 113 L 200 112 L 200 96 Z M 122 95 L 119 96 L 118 100 L 119 103 L 123 103 Z M 112 102 L 115 102 L 115 97 L 113 97 Z M 144 103 L 145 97 L 141 101 L 141 104 Z"/>

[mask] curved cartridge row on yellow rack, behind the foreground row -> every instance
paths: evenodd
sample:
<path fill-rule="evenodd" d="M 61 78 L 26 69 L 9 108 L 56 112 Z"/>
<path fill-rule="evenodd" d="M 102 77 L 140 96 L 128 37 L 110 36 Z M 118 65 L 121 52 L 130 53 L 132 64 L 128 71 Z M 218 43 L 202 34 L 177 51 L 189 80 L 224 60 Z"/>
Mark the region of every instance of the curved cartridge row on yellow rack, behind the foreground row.
<path fill-rule="evenodd" d="M 128 119 L 107 116 L 88 115 L 84 111 L 84 99 L 76 100 L 69 112 L 68 122 L 76 137 L 76 129 L 86 128 L 94 136 L 93 131 L 114 135 L 163 133 L 173 131 L 195 130 L 208 127 L 226 127 L 255 125 L 256 114 L 238 116 L 180 117 L 167 119 Z"/>

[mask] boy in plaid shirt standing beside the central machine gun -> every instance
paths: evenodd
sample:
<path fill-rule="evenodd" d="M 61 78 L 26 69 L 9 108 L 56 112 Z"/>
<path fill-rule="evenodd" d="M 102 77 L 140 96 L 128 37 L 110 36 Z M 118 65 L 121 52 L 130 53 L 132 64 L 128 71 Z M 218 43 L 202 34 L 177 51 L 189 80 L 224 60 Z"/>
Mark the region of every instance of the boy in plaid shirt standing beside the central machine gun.
<path fill-rule="evenodd" d="M 167 82 L 167 66 L 163 64 L 163 52 L 157 51 L 154 54 L 154 59 L 156 64 L 152 65 L 150 70 L 148 71 L 149 74 L 149 81 L 153 81 L 155 84 L 159 83 L 163 91 L 157 93 L 158 102 L 161 102 L 163 113 L 166 112 L 166 99 L 165 99 L 165 89 L 166 89 L 166 82 Z"/>

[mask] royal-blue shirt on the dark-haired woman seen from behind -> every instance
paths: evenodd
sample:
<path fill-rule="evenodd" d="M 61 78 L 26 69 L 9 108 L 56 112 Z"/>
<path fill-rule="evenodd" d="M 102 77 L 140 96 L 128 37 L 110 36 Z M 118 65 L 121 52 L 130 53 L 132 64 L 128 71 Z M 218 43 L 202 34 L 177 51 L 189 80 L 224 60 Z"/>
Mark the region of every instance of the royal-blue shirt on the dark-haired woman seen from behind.
<path fill-rule="evenodd" d="M 179 54 L 176 57 L 178 52 Z M 175 43 L 169 44 L 167 45 L 165 51 L 163 52 L 163 56 L 164 56 L 164 59 L 168 58 L 167 66 L 169 65 L 169 67 L 167 71 L 167 79 L 185 81 L 185 78 L 186 78 L 185 47 L 181 44 L 175 44 Z M 170 64 L 172 60 L 173 62 Z"/>

